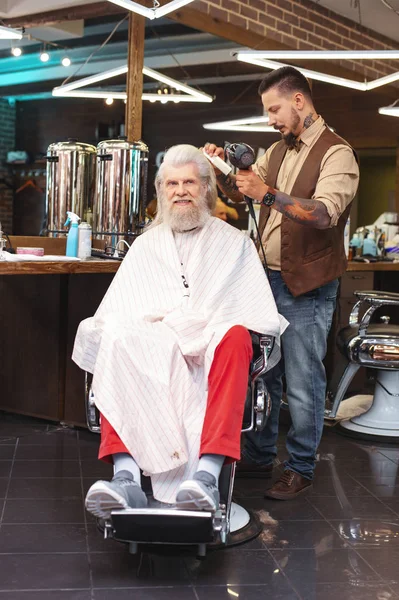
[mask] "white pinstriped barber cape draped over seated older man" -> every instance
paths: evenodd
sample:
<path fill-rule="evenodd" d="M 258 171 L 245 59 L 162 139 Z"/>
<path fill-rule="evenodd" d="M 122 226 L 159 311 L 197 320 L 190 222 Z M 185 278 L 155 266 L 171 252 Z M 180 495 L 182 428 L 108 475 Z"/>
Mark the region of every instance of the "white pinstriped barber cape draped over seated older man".
<path fill-rule="evenodd" d="M 78 329 L 73 360 L 93 373 L 99 411 L 145 474 L 173 503 L 197 463 L 207 378 L 234 325 L 276 337 L 287 322 L 252 241 L 210 217 L 173 233 L 165 224 L 133 244 L 94 317 Z"/>

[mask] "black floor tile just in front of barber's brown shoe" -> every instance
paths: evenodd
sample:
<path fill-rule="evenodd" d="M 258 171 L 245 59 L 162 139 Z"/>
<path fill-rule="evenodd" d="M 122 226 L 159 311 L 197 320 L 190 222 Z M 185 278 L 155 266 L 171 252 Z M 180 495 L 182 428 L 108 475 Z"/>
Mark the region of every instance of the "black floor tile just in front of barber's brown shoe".
<path fill-rule="evenodd" d="M 268 512 L 277 521 L 320 521 L 320 513 L 309 504 L 305 495 L 289 502 L 268 498 L 240 498 L 240 504 L 252 510 Z"/>

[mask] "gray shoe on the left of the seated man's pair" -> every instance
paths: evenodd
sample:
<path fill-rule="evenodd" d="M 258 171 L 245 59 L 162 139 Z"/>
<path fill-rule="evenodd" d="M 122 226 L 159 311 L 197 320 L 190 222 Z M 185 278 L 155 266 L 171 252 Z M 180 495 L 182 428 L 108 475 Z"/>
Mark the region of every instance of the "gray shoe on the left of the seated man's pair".
<path fill-rule="evenodd" d="M 87 492 L 86 509 L 99 519 L 109 519 L 113 510 L 146 508 L 147 496 L 130 471 L 119 471 L 112 481 L 96 481 Z"/>

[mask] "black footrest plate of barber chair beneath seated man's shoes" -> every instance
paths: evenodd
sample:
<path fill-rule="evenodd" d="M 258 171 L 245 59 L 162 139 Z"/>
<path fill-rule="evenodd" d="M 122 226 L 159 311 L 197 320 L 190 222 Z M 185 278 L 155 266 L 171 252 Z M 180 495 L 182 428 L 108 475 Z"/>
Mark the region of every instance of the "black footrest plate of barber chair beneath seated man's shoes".
<path fill-rule="evenodd" d="M 176 509 L 127 509 L 111 513 L 113 537 L 124 542 L 204 544 L 215 533 L 210 512 Z"/>

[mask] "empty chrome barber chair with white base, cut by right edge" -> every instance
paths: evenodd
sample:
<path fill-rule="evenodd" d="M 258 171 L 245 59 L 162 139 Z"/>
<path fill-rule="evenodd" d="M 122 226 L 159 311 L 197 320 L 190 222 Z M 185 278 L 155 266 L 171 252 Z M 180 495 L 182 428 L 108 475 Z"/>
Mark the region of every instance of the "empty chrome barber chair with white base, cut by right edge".
<path fill-rule="evenodd" d="M 342 421 L 340 427 L 348 435 L 381 438 L 399 437 L 399 324 L 382 316 L 379 323 L 370 323 L 374 312 L 382 307 L 399 306 L 399 294 L 393 292 L 355 292 L 358 298 L 349 317 L 349 325 L 338 334 L 338 348 L 346 359 L 345 370 L 335 390 L 329 392 L 327 419 L 335 419 L 349 384 L 360 367 L 376 370 L 376 385 L 369 410 L 360 416 Z M 361 318 L 359 315 L 364 310 Z"/>

